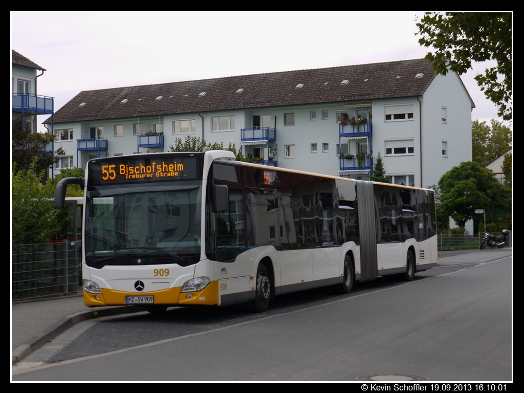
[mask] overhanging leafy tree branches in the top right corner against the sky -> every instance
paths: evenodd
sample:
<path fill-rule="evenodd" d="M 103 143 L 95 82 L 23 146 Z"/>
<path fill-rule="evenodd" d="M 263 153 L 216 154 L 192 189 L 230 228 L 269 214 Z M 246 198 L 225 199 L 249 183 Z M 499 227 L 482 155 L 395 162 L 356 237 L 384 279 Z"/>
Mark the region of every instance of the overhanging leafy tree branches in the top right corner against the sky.
<path fill-rule="evenodd" d="M 497 105 L 498 115 L 511 119 L 511 13 L 426 13 L 417 27 L 420 45 L 434 48 L 425 59 L 435 74 L 462 75 L 472 61 L 496 61 L 475 80 Z"/>

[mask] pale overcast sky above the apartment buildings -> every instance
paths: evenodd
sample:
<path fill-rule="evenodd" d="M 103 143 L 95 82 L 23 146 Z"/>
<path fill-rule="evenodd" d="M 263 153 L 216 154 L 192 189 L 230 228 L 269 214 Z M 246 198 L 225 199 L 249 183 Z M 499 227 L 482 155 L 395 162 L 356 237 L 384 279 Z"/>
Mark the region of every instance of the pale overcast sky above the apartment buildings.
<path fill-rule="evenodd" d="M 47 70 L 38 94 L 57 111 L 83 90 L 423 58 L 416 15 L 12 12 L 11 47 Z M 473 79 L 486 67 L 461 78 L 489 123 L 497 108 Z"/>

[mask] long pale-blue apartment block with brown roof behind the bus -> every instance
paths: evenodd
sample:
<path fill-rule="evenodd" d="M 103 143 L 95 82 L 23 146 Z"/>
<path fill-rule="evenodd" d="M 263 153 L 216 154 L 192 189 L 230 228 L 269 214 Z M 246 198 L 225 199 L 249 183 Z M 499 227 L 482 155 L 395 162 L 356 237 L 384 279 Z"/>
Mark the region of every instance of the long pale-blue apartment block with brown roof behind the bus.
<path fill-rule="evenodd" d="M 392 182 L 427 187 L 471 160 L 473 107 L 456 74 L 435 77 L 423 59 L 85 91 L 54 114 L 53 149 L 67 157 L 50 176 L 191 136 L 355 179 L 380 152 Z"/>

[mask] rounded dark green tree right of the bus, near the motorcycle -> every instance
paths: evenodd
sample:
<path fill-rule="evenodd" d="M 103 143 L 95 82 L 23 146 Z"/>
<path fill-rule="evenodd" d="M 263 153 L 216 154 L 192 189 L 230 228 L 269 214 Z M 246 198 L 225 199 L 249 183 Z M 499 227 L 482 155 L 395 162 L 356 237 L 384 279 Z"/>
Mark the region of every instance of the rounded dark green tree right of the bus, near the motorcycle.
<path fill-rule="evenodd" d="M 477 162 L 462 162 L 439 180 L 440 209 L 459 226 L 466 221 L 481 220 L 475 209 L 485 209 L 491 220 L 511 213 L 511 193 L 495 178 L 493 171 Z M 477 225 L 474 226 L 475 228 Z"/>

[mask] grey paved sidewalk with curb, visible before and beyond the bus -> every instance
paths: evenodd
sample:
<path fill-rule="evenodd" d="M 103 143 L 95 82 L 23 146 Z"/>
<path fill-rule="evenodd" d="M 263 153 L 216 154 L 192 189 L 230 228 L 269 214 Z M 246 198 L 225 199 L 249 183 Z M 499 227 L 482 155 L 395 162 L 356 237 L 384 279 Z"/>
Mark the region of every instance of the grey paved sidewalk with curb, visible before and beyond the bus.
<path fill-rule="evenodd" d="M 439 253 L 439 265 L 477 264 L 511 256 L 511 248 L 443 251 Z M 97 316 L 116 315 L 144 311 L 139 306 L 85 307 L 82 296 L 53 298 L 26 303 L 13 303 L 12 358 L 13 363 L 27 357 L 49 340 L 65 332 L 71 326 Z"/>

